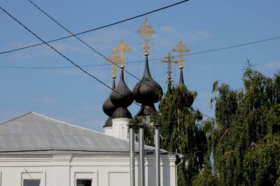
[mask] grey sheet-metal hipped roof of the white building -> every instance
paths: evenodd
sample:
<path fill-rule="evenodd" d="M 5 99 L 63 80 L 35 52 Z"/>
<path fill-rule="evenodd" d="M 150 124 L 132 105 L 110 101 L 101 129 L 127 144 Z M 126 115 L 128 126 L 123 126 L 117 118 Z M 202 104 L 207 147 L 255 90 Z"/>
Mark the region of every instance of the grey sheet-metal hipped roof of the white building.
<path fill-rule="evenodd" d="M 0 154 L 10 152 L 71 151 L 129 152 L 129 141 L 77 127 L 37 113 L 27 113 L 0 124 Z M 138 151 L 138 145 L 135 145 Z M 153 148 L 146 147 L 146 152 Z"/>

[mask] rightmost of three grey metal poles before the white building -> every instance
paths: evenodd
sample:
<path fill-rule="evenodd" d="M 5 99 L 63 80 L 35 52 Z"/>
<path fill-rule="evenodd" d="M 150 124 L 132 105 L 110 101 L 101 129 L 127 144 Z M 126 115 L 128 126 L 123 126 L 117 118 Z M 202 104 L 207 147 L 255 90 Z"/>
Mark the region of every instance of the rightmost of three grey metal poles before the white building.
<path fill-rule="evenodd" d="M 160 186 L 160 124 L 155 126 L 155 186 Z"/>

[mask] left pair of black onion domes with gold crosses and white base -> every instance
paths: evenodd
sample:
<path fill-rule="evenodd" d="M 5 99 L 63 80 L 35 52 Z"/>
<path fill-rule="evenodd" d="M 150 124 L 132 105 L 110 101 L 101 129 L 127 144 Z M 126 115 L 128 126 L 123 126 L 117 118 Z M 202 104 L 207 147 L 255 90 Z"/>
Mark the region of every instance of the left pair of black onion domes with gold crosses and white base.
<path fill-rule="evenodd" d="M 103 110 L 106 115 L 109 116 L 104 125 L 105 134 L 115 136 L 117 138 L 128 139 L 128 127 L 132 114 L 127 109 L 133 102 L 133 94 L 127 87 L 124 77 L 124 52 L 130 52 L 132 49 L 124 43 L 123 40 L 117 45 L 117 48 L 113 49 L 113 55 L 109 57 L 109 61 L 113 63 L 113 90 L 109 98 L 104 102 Z M 116 52 L 120 52 L 120 56 L 116 55 Z M 115 88 L 116 78 L 116 64 L 120 63 L 120 81 Z"/>

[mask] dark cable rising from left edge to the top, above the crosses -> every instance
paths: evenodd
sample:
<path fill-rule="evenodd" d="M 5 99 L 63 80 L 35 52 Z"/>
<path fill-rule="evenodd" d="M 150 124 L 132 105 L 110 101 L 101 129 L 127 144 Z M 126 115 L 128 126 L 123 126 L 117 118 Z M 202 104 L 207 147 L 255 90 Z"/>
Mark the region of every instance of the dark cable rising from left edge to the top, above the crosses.
<path fill-rule="evenodd" d="M 59 40 L 65 39 L 65 38 L 71 38 L 71 37 L 73 37 L 73 36 L 78 36 L 78 35 L 80 35 L 80 34 L 85 34 L 85 33 L 91 32 L 91 31 L 96 31 L 96 30 L 98 30 L 98 29 L 104 29 L 104 28 L 106 28 L 106 27 L 111 27 L 111 26 L 113 26 L 113 25 L 115 25 L 115 24 L 120 24 L 120 23 L 122 23 L 122 22 L 127 22 L 127 21 L 129 21 L 129 20 L 134 20 L 134 19 L 136 19 L 136 18 L 138 18 L 138 17 L 143 17 L 144 15 L 148 15 L 148 14 L 151 14 L 151 13 L 158 12 L 158 11 L 160 11 L 160 10 L 164 10 L 164 9 L 167 9 L 167 8 L 171 8 L 172 6 L 176 6 L 176 5 L 179 5 L 179 4 L 181 4 L 181 3 L 185 3 L 186 1 L 189 1 L 189 0 L 179 1 L 178 3 L 174 3 L 174 4 L 169 5 L 169 6 L 165 6 L 165 7 L 162 7 L 162 8 L 158 8 L 158 9 L 152 10 L 152 11 L 150 11 L 150 12 L 148 12 L 148 13 L 143 13 L 143 14 L 140 14 L 140 15 L 136 15 L 136 16 L 134 16 L 134 17 L 130 17 L 130 18 L 127 18 L 127 19 L 125 19 L 125 20 L 120 20 L 120 21 L 118 21 L 118 22 L 113 22 L 113 23 L 111 23 L 111 24 L 106 24 L 106 25 L 104 25 L 104 26 L 102 26 L 102 27 L 97 27 L 97 28 L 95 28 L 95 29 L 90 29 L 90 30 L 87 30 L 87 31 L 82 31 L 82 32 L 80 32 L 80 33 L 78 33 L 78 34 L 73 34 L 73 35 L 70 35 L 70 36 L 64 36 L 64 37 L 62 37 L 62 38 L 56 38 L 56 39 L 51 40 L 51 41 L 46 41 L 45 43 L 52 43 L 52 42 L 59 41 Z M 35 46 L 38 46 L 38 45 L 43 45 L 43 44 L 45 44 L 45 43 L 37 43 L 37 44 L 35 44 L 35 45 L 29 45 L 29 46 L 25 46 L 25 47 L 22 47 L 22 48 L 16 48 L 16 49 L 13 49 L 13 50 L 3 51 L 3 52 L 0 52 L 0 55 L 6 54 L 6 53 L 8 53 L 8 52 L 15 52 L 15 51 L 18 51 L 18 50 L 23 50 L 23 49 L 27 49 L 27 48 L 32 48 L 32 47 L 35 47 Z"/>

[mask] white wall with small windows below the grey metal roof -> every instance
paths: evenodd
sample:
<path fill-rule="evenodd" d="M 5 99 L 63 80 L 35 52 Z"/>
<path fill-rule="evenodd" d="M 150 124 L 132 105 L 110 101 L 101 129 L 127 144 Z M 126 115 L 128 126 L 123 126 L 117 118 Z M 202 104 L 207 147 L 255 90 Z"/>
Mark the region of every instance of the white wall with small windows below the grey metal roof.
<path fill-rule="evenodd" d="M 161 185 L 175 185 L 175 158 L 162 155 Z M 145 157 L 146 185 L 155 185 L 154 155 Z M 138 185 L 138 157 L 136 157 Z M 40 186 L 77 186 L 77 179 L 91 186 L 129 186 L 129 155 L 0 155 L 0 185 L 23 186 L 23 180 L 40 180 Z"/>

